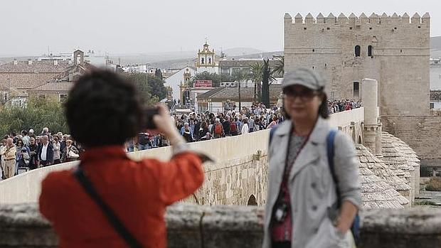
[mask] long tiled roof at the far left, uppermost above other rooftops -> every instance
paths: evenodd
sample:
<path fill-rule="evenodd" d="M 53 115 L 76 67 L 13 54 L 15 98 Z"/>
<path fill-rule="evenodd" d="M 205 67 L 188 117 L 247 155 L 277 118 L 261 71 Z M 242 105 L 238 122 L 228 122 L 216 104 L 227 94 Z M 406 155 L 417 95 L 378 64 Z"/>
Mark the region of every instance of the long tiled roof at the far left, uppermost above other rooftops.
<path fill-rule="evenodd" d="M 0 65 L 0 72 L 63 72 L 69 66 L 68 61 L 58 61 L 54 65 L 53 60 L 32 60 L 29 65 L 28 61 L 14 61 Z"/>

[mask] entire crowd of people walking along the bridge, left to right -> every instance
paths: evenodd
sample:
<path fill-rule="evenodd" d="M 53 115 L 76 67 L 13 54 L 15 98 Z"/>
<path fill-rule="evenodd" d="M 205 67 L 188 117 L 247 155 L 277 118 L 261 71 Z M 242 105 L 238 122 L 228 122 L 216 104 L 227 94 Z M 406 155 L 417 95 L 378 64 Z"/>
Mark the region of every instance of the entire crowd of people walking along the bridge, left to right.
<path fill-rule="evenodd" d="M 358 107 L 361 107 L 359 101 L 328 101 L 330 114 Z M 259 103 L 242 107 L 241 111 L 238 111 L 229 100 L 225 102 L 223 112 L 191 112 L 172 114 L 171 117 L 176 129 L 187 142 L 248 134 L 270 129 L 284 120 L 280 107 L 273 106 L 268 109 Z M 164 135 L 153 130 L 141 132 L 126 143 L 128 152 L 161 146 L 169 146 L 169 141 Z M 1 178 L 6 179 L 23 171 L 76 160 L 82 150 L 80 144 L 70 135 L 60 132 L 52 135 L 48 128 L 44 128 L 39 135 L 34 134 L 33 129 L 23 130 L 20 134 L 7 134 L 0 144 Z"/>

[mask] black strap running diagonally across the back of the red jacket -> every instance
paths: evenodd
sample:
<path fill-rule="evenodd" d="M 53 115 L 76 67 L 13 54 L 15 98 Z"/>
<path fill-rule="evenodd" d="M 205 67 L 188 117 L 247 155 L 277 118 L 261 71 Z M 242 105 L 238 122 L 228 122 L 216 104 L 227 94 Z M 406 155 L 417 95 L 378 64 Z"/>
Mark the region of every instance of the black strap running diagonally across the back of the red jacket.
<path fill-rule="evenodd" d="M 107 217 L 107 220 L 110 222 L 110 225 L 112 225 L 119 236 L 124 239 L 127 245 L 129 245 L 131 248 L 142 248 L 141 243 L 139 243 L 132 233 L 127 230 L 127 227 L 125 227 L 121 220 L 119 220 L 109 205 L 107 205 L 102 200 L 100 195 L 98 195 L 95 188 L 93 188 L 92 182 L 90 182 L 89 178 L 85 176 L 85 173 L 80 166 L 78 166 L 78 168 L 73 172 L 73 175 L 78 180 L 80 185 L 83 186 L 87 195 L 89 195 L 90 198 L 92 198 L 92 200 L 101 208 L 102 212 L 104 212 L 105 216 Z"/>

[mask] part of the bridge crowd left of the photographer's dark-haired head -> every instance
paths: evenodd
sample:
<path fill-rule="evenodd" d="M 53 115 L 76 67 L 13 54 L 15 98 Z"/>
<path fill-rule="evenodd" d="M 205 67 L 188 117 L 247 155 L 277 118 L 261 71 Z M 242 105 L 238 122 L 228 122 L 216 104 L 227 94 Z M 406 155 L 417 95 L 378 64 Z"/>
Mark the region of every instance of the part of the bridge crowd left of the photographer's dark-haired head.
<path fill-rule="evenodd" d="M 47 127 L 38 135 L 33 129 L 23 130 L 20 134 L 6 134 L 0 144 L 1 179 L 44 166 L 74 161 L 79 158 L 80 151 L 80 144 L 68 134 L 51 134 Z"/>

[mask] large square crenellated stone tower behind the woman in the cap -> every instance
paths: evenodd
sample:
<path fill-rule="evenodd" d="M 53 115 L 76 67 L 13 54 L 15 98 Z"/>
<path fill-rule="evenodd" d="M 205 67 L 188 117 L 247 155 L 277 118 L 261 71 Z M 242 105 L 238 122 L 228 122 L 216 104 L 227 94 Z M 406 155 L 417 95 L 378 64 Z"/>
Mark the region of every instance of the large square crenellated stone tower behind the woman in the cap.
<path fill-rule="evenodd" d="M 363 78 L 378 80 L 381 116 L 429 113 L 430 16 L 285 14 L 285 71 L 328 77 L 331 99 L 359 99 Z M 411 104 L 410 104 L 411 103 Z"/>

